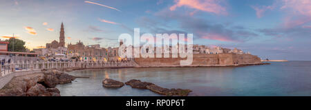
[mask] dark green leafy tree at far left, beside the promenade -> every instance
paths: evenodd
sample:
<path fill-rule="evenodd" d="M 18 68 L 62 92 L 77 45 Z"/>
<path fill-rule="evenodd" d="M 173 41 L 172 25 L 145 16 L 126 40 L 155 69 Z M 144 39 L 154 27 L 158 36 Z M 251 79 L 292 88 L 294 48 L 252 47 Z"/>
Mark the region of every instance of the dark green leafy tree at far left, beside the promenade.
<path fill-rule="evenodd" d="M 26 52 L 25 41 L 21 39 L 10 38 L 6 40 L 9 42 L 8 51 L 10 52 Z M 13 50 L 14 45 L 14 50 Z"/>

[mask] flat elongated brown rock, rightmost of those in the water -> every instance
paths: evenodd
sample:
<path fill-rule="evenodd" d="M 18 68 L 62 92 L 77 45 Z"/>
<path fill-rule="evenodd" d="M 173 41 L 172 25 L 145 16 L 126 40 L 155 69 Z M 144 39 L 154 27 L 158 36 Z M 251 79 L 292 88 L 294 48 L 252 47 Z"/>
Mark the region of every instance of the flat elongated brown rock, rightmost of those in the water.
<path fill-rule="evenodd" d="M 159 87 L 158 85 L 149 85 L 147 89 L 166 96 L 188 96 L 191 92 L 189 89 L 167 89 Z"/>

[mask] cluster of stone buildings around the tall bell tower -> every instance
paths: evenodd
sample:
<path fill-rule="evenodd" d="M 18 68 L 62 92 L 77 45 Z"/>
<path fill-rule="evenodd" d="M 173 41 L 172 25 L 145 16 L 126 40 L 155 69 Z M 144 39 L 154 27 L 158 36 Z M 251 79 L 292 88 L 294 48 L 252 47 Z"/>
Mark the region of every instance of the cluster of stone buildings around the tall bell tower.
<path fill-rule="evenodd" d="M 55 56 L 66 56 L 66 58 L 79 61 L 117 61 L 123 60 L 117 57 L 117 47 L 100 47 L 97 45 L 84 45 L 81 41 L 76 44 L 69 43 L 65 47 L 64 23 L 59 32 L 59 42 L 54 40 L 46 43 L 46 48 L 33 49 L 42 58 L 55 58 Z"/>

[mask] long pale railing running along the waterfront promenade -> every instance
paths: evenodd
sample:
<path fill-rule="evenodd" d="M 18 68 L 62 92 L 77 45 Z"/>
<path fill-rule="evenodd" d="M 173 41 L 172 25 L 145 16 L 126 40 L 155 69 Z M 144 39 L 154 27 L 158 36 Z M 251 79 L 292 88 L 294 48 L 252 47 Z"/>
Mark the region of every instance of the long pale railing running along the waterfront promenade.
<path fill-rule="evenodd" d="M 3 63 L 0 77 L 13 72 L 27 72 L 37 69 L 70 69 L 102 67 L 134 67 L 135 61 L 16 61 Z"/>

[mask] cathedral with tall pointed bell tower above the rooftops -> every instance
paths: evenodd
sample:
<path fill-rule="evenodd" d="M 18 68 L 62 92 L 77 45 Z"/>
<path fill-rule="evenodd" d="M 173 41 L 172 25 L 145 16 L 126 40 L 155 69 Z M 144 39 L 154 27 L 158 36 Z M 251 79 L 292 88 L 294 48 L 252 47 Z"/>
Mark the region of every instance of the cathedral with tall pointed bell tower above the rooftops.
<path fill-rule="evenodd" d="M 61 25 L 61 30 L 59 32 L 59 42 L 56 40 L 52 41 L 52 43 L 46 43 L 46 48 L 56 49 L 58 47 L 65 47 L 65 31 L 64 31 L 64 24 Z"/>

